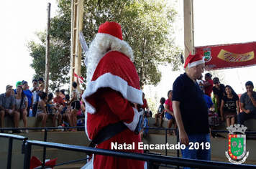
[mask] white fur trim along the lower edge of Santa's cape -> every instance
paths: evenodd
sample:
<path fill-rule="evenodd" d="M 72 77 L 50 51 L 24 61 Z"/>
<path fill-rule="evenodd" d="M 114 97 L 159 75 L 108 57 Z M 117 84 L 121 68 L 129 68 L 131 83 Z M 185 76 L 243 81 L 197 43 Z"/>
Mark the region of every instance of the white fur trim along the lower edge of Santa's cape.
<path fill-rule="evenodd" d="M 95 107 L 86 101 L 86 97 L 93 95 L 101 87 L 110 87 L 112 90 L 121 92 L 123 97 L 130 102 L 143 105 L 142 91 L 128 85 L 128 83 L 121 77 L 115 76 L 111 73 L 101 75 L 96 81 L 88 82 L 85 92 L 83 92 L 83 100 L 86 102 L 86 111 L 94 114 Z"/>

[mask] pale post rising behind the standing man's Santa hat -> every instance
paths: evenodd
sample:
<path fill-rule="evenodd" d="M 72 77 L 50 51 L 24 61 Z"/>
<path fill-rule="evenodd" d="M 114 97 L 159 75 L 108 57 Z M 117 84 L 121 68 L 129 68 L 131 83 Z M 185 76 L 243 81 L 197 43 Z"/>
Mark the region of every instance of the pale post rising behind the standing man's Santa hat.
<path fill-rule="evenodd" d="M 185 61 L 189 52 L 195 54 L 193 32 L 193 0 L 183 0 Z M 184 62 L 185 62 L 184 61 Z"/>

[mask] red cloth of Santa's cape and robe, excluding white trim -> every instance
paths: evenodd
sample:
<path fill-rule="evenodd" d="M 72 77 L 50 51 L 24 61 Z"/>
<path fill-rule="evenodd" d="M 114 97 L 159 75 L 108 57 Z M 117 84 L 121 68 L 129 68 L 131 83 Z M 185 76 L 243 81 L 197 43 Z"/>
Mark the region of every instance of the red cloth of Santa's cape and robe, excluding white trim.
<path fill-rule="evenodd" d="M 95 81 L 101 75 L 111 73 L 124 79 L 130 87 L 140 90 L 140 80 L 134 64 L 129 57 L 121 52 L 109 52 L 99 62 L 93 74 L 91 81 Z M 113 82 L 116 84 L 116 82 Z M 142 96 L 140 96 L 142 98 Z M 134 120 L 134 110 L 132 103 L 125 99 L 120 92 L 116 92 L 110 87 L 99 88 L 93 95 L 85 98 L 96 109 L 96 113 L 87 113 L 87 132 L 88 137 L 93 140 L 96 134 L 106 125 L 119 121 L 130 124 Z M 137 124 L 136 124 L 137 125 Z M 140 142 L 140 135 L 127 129 L 118 135 L 111 137 L 104 143 L 97 145 L 97 148 L 111 149 L 111 143 L 134 143 L 134 150 L 129 152 L 142 153 L 137 150 L 137 144 Z M 104 155 L 95 155 L 93 159 L 93 168 L 144 168 L 144 162 L 138 160 L 128 160 L 124 158 L 114 158 Z"/>

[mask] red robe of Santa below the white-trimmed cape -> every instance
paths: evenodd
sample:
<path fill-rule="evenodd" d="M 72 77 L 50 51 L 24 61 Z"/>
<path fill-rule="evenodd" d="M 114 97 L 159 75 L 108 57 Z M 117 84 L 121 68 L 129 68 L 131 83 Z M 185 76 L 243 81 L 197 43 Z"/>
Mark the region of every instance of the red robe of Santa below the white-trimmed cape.
<path fill-rule="evenodd" d="M 88 135 L 92 139 L 106 125 L 113 124 L 122 120 L 123 122 L 132 122 L 134 110 L 127 100 L 122 97 L 119 92 L 111 89 L 102 89 L 102 95 L 99 97 L 99 102 L 96 104 L 96 114 L 88 113 L 87 130 Z M 124 150 L 129 152 L 142 153 L 142 150 L 137 150 L 137 143 L 140 142 L 140 135 L 135 135 L 134 132 L 127 129 L 120 132 L 118 135 L 111 137 L 104 143 L 97 145 L 97 148 L 111 149 L 111 143 L 132 144 L 134 150 Z M 124 158 L 113 158 L 104 155 L 95 155 L 93 168 L 143 168 L 144 162 L 138 160 L 128 160 Z"/>

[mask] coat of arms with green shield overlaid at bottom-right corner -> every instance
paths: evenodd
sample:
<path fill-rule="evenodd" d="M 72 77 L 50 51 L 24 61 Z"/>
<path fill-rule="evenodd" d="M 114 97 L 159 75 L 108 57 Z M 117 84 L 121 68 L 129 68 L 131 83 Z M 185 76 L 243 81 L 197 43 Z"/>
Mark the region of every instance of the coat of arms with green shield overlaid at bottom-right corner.
<path fill-rule="evenodd" d="M 249 152 L 246 152 L 246 135 L 244 134 L 247 127 L 235 124 L 234 127 L 233 125 L 227 127 L 227 130 L 229 130 L 229 151 L 226 151 L 225 154 L 229 162 L 242 164 L 249 155 Z M 242 134 L 234 134 L 235 132 Z"/>

